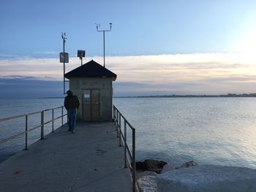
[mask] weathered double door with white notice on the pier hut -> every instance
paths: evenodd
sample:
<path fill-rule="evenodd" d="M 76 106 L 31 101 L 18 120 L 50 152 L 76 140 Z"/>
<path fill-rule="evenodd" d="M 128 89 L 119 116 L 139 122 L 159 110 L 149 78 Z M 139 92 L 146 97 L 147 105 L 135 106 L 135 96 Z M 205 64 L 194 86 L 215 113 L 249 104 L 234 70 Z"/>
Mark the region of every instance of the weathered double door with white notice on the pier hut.
<path fill-rule="evenodd" d="M 83 120 L 99 120 L 99 89 L 83 90 Z"/>

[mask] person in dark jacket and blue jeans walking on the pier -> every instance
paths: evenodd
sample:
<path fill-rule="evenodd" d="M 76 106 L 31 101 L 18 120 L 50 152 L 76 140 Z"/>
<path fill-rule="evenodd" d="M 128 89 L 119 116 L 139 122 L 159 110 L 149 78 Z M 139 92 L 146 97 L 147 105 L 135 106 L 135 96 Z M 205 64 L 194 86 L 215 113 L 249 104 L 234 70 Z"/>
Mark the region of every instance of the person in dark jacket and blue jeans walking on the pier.
<path fill-rule="evenodd" d="M 67 91 L 67 96 L 64 100 L 64 107 L 67 110 L 67 118 L 69 121 L 69 129 L 68 131 L 71 131 L 72 134 L 75 133 L 75 118 L 77 115 L 77 110 L 80 105 L 80 102 L 78 100 L 78 97 L 73 95 L 72 91 Z"/>

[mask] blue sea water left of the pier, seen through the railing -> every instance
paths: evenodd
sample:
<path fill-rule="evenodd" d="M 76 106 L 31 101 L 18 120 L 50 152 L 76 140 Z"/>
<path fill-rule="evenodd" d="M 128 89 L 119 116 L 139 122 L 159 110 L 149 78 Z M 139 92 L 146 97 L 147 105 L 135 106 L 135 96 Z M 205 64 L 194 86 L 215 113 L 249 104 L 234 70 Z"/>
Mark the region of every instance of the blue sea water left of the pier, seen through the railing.
<path fill-rule="evenodd" d="M 0 99 L 0 119 L 9 118 L 16 115 L 29 114 L 32 112 L 38 112 L 34 115 L 28 116 L 28 129 L 34 128 L 41 124 L 41 111 L 48 110 L 55 107 L 63 106 L 64 99 Z M 66 110 L 64 110 L 66 112 Z M 62 114 L 62 109 L 54 110 L 53 117 L 58 118 Z M 52 120 L 52 110 L 44 112 L 44 122 Z M 67 118 L 64 118 L 64 123 L 67 122 Z M 61 118 L 54 121 L 53 129 L 61 126 Z M 0 140 L 7 139 L 14 135 L 17 135 L 25 130 L 26 117 L 15 118 L 12 120 L 6 120 L 0 122 Z M 52 124 L 45 125 L 45 134 L 49 134 L 52 131 Z M 37 128 L 34 131 L 30 131 L 28 134 L 28 144 L 36 142 L 40 139 L 41 129 Z M 25 148 L 25 134 L 20 137 L 16 137 L 10 141 L 0 144 L 0 163 L 9 156 L 15 154 L 19 150 Z"/>

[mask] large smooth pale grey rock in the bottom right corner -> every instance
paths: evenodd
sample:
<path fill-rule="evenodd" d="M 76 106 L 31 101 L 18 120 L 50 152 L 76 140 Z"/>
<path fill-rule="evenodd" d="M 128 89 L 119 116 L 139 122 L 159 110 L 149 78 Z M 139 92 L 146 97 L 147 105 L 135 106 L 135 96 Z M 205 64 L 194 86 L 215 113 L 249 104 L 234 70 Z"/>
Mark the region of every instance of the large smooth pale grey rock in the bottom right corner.
<path fill-rule="evenodd" d="M 236 166 L 191 166 L 159 174 L 156 181 L 158 192 L 252 192 L 256 191 L 256 169 Z"/>

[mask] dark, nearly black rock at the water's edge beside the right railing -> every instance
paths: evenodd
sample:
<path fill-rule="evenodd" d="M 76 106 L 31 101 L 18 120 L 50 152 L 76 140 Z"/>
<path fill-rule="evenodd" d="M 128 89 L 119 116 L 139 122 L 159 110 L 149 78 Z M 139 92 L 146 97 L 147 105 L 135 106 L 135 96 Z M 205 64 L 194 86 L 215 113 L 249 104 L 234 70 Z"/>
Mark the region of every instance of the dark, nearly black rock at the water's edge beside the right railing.
<path fill-rule="evenodd" d="M 145 171 L 151 171 L 156 173 L 161 173 L 163 166 L 167 164 L 165 161 L 158 161 L 154 159 L 146 159 L 143 162 L 136 162 L 136 170 L 141 170 L 143 172 Z"/>

